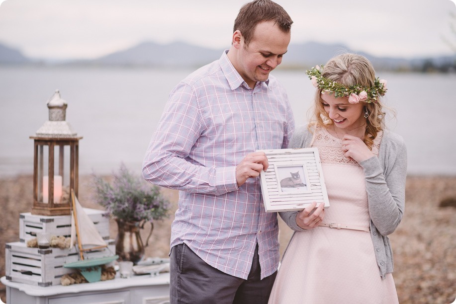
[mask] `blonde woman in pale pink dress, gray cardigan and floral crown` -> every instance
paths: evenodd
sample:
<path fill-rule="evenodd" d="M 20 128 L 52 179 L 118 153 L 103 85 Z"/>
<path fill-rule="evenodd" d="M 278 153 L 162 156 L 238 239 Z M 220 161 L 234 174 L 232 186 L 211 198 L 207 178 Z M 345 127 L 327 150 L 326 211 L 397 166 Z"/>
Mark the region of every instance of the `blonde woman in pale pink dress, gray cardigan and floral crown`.
<path fill-rule="evenodd" d="M 397 303 L 387 235 L 403 216 L 407 155 L 384 128 L 386 81 L 355 54 L 306 74 L 317 88 L 314 117 L 290 148 L 318 148 L 330 207 L 315 218 L 280 213 L 296 232 L 270 303 Z"/>

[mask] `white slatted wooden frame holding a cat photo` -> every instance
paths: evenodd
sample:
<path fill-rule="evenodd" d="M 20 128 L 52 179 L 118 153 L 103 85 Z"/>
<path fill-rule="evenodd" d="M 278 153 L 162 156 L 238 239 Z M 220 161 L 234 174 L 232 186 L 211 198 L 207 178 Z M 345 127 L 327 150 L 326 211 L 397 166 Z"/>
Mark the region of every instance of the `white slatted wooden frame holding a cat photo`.
<path fill-rule="evenodd" d="M 312 202 L 329 207 L 317 148 L 259 150 L 269 167 L 260 173 L 266 212 L 302 210 Z"/>

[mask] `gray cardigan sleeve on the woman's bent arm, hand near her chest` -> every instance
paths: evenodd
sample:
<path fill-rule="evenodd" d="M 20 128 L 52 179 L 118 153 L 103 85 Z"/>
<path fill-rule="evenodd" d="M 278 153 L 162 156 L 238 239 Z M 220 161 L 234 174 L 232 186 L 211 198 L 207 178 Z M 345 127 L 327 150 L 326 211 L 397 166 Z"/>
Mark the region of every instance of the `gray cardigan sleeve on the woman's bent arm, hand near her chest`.
<path fill-rule="evenodd" d="M 384 167 L 375 156 L 360 162 L 365 173 L 370 219 L 382 235 L 394 232 L 405 209 L 407 151 L 402 138 L 391 133 L 390 136 L 393 138 L 382 147 Z"/>

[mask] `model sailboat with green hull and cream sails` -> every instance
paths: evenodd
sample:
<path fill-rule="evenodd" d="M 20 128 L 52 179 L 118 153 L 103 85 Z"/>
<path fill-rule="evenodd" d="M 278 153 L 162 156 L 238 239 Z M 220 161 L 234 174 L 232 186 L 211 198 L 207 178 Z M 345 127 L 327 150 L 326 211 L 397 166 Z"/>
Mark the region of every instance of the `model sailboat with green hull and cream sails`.
<path fill-rule="evenodd" d="M 70 249 L 78 242 L 80 260 L 73 263 L 64 264 L 66 268 L 78 268 L 87 281 L 96 282 L 101 277 L 101 265 L 110 263 L 119 258 L 118 255 L 85 258 L 85 252 L 90 250 L 100 250 L 106 248 L 103 240 L 95 225 L 85 213 L 83 207 L 71 189 L 72 217 L 71 217 L 71 244 Z"/>

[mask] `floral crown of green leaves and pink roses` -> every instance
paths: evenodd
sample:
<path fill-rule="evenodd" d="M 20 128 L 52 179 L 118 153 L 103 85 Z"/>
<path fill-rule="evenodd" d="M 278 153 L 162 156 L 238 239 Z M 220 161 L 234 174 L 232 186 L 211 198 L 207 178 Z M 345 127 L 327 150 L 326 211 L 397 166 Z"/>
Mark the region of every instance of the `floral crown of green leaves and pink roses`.
<path fill-rule="evenodd" d="M 323 66 L 315 66 L 306 71 L 313 86 L 319 87 L 323 93 L 334 93 L 334 97 L 348 97 L 350 103 L 375 102 L 378 101 L 378 96 L 383 96 L 386 93 L 386 80 L 384 79 L 375 78 L 374 85 L 371 87 L 358 84 L 345 86 L 323 77 L 321 70 L 323 70 Z"/>

